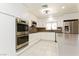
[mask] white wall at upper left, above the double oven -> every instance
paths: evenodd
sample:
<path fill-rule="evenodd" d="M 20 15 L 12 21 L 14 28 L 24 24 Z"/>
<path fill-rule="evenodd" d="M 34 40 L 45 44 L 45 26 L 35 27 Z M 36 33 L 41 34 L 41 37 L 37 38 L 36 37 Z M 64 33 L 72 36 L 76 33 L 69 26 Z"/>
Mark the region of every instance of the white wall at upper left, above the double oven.
<path fill-rule="evenodd" d="M 0 4 L 0 12 L 4 12 L 16 17 L 20 17 L 25 20 L 29 20 L 29 25 L 31 26 L 31 20 L 36 21 L 37 17 L 32 15 L 27 11 L 27 7 L 25 7 L 21 3 L 2 3 Z"/>

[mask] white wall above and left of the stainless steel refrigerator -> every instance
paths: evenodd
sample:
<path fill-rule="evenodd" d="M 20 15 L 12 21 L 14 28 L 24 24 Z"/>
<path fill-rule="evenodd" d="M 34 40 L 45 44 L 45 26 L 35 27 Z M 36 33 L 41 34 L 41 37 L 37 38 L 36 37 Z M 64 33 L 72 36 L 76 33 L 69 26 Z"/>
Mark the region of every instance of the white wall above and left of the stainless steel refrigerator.
<path fill-rule="evenodd" d="M 58 18 L 58 24 L 59 26 L 63 27 L 63 20 L 72 20 L 72 19 L 79 19 L 79 13 L 71 13 L 71 14 L 65 14 Z M 64 28 L 63 28 L 64 30 Z"/>

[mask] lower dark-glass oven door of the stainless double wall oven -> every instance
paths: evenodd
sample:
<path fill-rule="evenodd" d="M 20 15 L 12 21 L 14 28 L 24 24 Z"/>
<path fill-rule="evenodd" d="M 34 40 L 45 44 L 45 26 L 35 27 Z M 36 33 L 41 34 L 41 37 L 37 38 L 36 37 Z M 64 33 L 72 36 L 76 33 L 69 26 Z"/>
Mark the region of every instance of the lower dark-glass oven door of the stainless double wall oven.
<path fill-rule="evenodd" d="M 28 45 L 28 39 L 29 39 L 28 35 L 17 36 L 16 49 L 19 49 Z"/>

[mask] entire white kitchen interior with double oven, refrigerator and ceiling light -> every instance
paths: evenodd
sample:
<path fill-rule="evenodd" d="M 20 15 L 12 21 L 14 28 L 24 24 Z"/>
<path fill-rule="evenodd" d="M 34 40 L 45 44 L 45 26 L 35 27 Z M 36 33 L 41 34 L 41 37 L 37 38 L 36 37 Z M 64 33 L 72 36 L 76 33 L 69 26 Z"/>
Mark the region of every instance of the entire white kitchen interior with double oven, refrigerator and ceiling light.
<path fill-rule="evenodd" d="M 78 8 L 75 3 L 0 4 L 0 55 L 79 55 Z"/>

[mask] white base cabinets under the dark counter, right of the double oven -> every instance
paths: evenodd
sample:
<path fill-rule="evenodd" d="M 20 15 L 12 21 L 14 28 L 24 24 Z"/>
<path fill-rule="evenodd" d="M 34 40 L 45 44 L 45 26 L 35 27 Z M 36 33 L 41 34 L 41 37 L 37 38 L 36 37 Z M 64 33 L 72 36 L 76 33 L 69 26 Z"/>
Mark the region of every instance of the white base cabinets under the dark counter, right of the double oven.
<path fill-rule="evenodd" d="M 39 40 L 55 41 L 55 32 L 38 32 L 38 33 L 29 34 L 29 43 Z"/>

